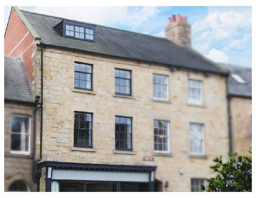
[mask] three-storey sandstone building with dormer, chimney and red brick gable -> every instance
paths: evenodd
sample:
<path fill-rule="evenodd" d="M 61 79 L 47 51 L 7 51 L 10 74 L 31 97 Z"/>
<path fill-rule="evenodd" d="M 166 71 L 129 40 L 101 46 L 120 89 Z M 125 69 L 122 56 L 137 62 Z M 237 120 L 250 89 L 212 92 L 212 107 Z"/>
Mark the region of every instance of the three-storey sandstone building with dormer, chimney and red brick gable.
<path fill-rule="evenodd" d="M 12 7 L 4 53 L 43 106 L 37 190 L 188 192 L 215 176 L 228 72 L 189 48 L 186 17 L 168 21 L 159 38 Z"/>

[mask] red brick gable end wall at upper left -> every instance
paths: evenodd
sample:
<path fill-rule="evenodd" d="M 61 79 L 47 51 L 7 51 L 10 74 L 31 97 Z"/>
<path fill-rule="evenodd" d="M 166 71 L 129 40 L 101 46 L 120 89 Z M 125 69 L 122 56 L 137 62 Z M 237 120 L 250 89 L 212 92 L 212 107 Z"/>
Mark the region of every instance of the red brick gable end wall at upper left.
<path fill-rule="evenodd" d="M 6 33 L 4 36 L 4 55 L 17 58 L 22 56 L 31 81 L 34 80 L 32 53 L 34 38 L 12 8 Z"/>

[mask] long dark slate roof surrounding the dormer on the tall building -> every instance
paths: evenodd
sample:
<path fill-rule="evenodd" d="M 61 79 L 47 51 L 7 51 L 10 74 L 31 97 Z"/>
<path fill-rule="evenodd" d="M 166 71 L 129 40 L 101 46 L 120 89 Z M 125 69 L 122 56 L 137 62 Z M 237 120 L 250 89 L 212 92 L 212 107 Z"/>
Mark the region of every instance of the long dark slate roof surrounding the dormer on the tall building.
<path fill-rule="evenodd" d="M 165 38 L 80 22 L 96 26 L 95 43 L 86 42 L 65 38 L 53 29 L 62 20 L 67 19 L 21 12 L 41 38 L 40 42 L 44 44 L 220 74 L 227 73 L 198 52 Z"/>

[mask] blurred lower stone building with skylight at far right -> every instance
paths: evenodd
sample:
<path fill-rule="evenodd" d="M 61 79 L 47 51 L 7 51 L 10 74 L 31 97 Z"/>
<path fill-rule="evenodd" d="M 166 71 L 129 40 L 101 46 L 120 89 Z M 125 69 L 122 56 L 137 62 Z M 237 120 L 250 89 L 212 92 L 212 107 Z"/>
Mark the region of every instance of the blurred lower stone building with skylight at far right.
<path fill-rule="evenodd" d="M 220 64 L 228 78 L 229 152 L 250 155 L 252 147 L 252 68 Z"/>

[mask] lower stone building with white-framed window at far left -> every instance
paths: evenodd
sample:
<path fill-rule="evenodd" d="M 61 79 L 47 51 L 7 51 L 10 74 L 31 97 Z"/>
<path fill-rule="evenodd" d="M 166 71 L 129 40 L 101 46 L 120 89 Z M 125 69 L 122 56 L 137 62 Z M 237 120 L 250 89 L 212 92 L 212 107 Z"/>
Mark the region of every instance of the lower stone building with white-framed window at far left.
<path fill-rule="evenodd" d="M 4 191 L 36 191 L 35 108 L 24 63 L 4 57 Z"/>

